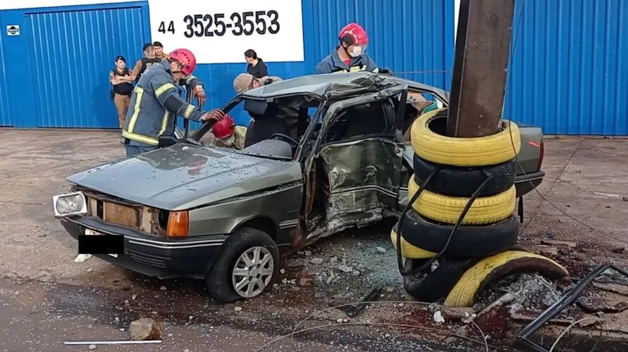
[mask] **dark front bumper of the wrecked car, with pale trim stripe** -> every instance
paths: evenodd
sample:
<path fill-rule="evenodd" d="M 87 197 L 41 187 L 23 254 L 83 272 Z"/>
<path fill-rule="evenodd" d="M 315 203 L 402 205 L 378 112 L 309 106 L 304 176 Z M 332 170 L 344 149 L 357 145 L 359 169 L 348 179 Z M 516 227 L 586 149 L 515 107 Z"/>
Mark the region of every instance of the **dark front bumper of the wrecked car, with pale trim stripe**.
<path fill-rule="evenodd" d="M 73 216 L 61 218 L 61 225 L 78 240 L 90 229 L 102 234 L 124 236 L 124 253 L 117 258 L 107 254 L 94 254 L 109 263 L 119 265 L 143 275 L 168 279 L 204 275 L 221 250 L 227 235 L 195 236 L 185 239 L 168 239 L 111 225 L 99 218 Z"/>

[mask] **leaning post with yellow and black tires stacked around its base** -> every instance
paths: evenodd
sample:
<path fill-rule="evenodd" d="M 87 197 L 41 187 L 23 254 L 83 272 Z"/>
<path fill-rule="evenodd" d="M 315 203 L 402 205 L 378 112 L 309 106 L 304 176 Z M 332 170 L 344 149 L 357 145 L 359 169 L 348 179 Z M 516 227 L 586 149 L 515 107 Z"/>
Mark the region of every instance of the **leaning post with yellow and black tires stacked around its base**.
<path fill-rule="evenodd" d="M 549 258 L 511 250 L 521 134 L 501 113 L 513 15 L 514 0 L 461 1 L 450 106 L 412 124 L 410 202 L 390 237 L 404 287 L 419 301 L 470 307 L 505 275 L 568 274 Z"/>

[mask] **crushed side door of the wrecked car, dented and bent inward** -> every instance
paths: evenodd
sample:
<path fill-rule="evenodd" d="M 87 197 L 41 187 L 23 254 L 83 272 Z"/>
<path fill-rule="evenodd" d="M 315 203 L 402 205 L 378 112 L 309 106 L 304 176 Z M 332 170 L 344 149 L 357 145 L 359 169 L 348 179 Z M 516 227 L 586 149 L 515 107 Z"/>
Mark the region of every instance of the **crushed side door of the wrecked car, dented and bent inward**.
<path fill-rule="evenodd" d="M 405 84 L 329 106 L 310 164 L 327 232 L 395 215 L 403 142 L 394 96 Z M 398 104 L 405 108 L 405 104 Z"/>

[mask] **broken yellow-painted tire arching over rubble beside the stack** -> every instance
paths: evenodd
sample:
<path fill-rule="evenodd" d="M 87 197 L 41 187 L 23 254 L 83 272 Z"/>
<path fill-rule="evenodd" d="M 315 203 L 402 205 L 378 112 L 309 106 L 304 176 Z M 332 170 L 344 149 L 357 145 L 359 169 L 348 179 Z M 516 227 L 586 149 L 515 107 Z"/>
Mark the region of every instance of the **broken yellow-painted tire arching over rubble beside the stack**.
<path fill-rule="evenodd" d="M 539 272 L 552 279 L 569 275 L 567 269 L 550 258 L 524 251 L 505 251 L 480 260 L 464 272 L 445 298 L 445 306 L 471 307 L 485 287 L 515 272 Z"/>

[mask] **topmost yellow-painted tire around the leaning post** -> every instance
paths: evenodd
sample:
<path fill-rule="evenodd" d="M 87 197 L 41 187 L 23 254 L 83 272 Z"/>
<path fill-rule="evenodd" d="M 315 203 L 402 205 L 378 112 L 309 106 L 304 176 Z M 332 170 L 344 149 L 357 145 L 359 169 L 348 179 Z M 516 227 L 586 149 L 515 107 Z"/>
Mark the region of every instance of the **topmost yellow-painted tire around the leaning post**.
<path fill-rule="evenodd" d="M 503 120 L 503 130 L 485 137 L 455 138 L 444 135 L 445 121 L 433 123 L 435 119 L 447 119 L 447 109 L 425 113 L 412 123 L 410 142 L 412 149 L 426 161 L 452 166 L 487 166 L 510 161 L 521 150 L 521 132 L 515 122 Z M 430 129 L 439 126 L 439 134 Z M 442 127 L 441 127 L 442 125 Z M 511 139 L 512 134 L 512 139 Z M 512 144 L 515 144 L 513 148 Z"/>

